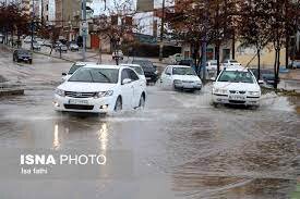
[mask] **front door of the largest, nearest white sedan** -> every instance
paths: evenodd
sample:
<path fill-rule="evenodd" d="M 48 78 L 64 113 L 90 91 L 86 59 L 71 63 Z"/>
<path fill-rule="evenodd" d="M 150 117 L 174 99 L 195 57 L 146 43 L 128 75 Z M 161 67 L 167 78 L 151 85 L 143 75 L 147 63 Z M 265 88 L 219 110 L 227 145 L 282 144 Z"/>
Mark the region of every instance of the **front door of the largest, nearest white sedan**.
<path fill-rule="evenodd" d="M 123 84 L 125 78 L 131 79 L 129 69 L 123 69 L 121 72 L 121 96 L 124 109 L 131 109 L 133 107 L 132 99 L 134 95 L 133 82 Z"/>

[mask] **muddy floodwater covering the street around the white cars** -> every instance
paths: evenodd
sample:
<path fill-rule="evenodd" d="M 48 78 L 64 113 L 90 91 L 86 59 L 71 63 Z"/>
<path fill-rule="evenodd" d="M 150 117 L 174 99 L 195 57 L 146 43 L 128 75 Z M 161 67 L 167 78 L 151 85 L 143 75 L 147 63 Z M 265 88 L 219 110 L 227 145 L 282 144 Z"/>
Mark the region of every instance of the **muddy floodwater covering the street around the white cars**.
<path fill-rule="evenodd" d="M 35 65 L 36 64 L 36 65 Z M 25 96 L 1 98 L 0 148 L 127 151 L 123 178 L 0 179 L 0 198 L 289 198 L 299 174 L 299 98 L 263 96 L 257 110 L 211 105 L 196 94 L 147 88 L 145 110 L 61 114 L 53 89 L 68 64 L 25 71 Z M 297 113 L 298 110 L 298 113 Z"/>

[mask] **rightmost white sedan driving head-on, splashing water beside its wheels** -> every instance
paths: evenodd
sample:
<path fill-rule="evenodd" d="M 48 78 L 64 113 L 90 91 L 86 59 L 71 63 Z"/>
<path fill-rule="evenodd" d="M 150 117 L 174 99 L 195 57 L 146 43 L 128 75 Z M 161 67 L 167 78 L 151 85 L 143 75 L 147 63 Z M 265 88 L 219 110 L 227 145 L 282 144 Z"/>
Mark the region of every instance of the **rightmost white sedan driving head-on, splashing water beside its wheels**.
<path fill-rule="evenodd" d="M 248 69 L 227 67 L 221 71 L 213 85 L 214 105 L 230 103 L 259 107 L 260 98 L 261 87 Z"/>

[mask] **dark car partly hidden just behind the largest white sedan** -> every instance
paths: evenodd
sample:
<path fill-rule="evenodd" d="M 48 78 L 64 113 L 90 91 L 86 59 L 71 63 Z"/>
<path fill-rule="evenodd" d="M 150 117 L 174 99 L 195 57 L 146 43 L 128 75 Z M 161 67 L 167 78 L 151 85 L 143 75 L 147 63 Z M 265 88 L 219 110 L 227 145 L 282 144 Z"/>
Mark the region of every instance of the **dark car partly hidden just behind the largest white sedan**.
<path fill-rule="evenodd" d="M 133 60 L 133 64 L 139 64 L 142 66 L 147 83 L 156 83 L 158 78 L 158 72 L 156 66 L 153 65 L 153 63 L 148 60 Z"/>

